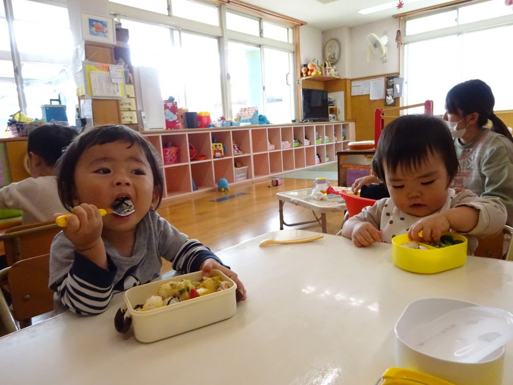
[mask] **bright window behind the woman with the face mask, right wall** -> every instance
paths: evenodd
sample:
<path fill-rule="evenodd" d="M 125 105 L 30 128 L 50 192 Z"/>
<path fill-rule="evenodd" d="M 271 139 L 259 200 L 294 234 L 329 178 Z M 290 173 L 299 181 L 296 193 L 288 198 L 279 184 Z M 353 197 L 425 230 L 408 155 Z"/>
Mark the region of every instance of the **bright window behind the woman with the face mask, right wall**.
<path fill-rule="evenodd" d="M 507 42 L 513 35 L 513 20 L 502 26 L 502 19 L 494 19 L 508 14 L 513 14 L 513 7 L 491 0 L 407 20 L 405 104 L 431 99 L 434 113 L 442 114 L 450 88 L 481 79 L 494 92 L 495 110 L 511 109 L 513 89 L 508 79 L 513 51 Z"/>

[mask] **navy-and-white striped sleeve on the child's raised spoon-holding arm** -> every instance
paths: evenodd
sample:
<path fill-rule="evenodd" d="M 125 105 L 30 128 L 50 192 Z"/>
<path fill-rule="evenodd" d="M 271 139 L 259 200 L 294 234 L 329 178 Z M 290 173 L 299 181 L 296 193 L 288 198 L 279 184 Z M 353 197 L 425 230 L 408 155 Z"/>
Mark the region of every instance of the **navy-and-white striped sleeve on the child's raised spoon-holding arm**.
<path fill-rule="evenodd" d="M 61 302 L 72 312 L 83 315 L 103 313 L 112 298 L 112 289 L 117 268 L 107 255 L 109 269 L 75 252 L 70 271 L 58 284 L 57 293 Z"/>

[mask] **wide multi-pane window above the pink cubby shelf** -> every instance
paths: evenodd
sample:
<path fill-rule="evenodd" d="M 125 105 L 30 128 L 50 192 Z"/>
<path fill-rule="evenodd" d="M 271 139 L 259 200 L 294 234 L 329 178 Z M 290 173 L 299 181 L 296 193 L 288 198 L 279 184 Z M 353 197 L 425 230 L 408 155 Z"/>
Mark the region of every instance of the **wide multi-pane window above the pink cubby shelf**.
<path fill-rule="evenodd" d="M 128 1 L 115 0 L 125 5 Z M 173 96 L 180 107 L 208 111 L 212 119 L 234 118 L 242 107 L 253 106 L 273 123 L 293 119 L 295 87 L 290 84 L 295 84 L 296 74 L 291 64 L 291 26 L 211 5 L 209 0 L 168 3 L 177 17 L 113 3 L 111 7 L 130 31 L 132 64 L 157 68 L 163 99 Z M 227 31 L 219 27 L 221 12 Z M 226 50 L 221 37 L 228 40 Z"/>

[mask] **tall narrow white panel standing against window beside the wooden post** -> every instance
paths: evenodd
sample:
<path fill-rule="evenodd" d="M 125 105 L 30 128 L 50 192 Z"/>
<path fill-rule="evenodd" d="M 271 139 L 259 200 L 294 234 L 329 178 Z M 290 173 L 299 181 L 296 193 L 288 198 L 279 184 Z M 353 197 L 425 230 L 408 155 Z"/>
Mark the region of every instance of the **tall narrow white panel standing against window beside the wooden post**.
<path fill-rule="evenodd" d="M 165 129 L 164 101 L 162 100 L 159 73 L 153 67 L 135 67 L 135 95 L 137 108 L 146 114 L 144 130 Z"/>

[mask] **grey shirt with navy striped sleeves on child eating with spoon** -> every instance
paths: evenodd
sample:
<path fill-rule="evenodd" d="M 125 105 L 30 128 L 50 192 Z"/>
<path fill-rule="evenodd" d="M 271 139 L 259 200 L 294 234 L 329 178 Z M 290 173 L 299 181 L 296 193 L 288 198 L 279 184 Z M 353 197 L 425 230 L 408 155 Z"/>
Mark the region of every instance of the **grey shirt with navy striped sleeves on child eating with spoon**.
<path fill-rule="evenodd" d="M 49 282 L 56 292 L 57 312 L 63 306 L 84 315 L 104 312 L 113 293 L 159 278 L 161 257 L 184 273 L 198 271 L 208 258 L 220 261 L 208 247 L 188 239 L 154 210 L 137 225 L 131 257 L 121 256 L 108 242 L 105 249 L 108 269 L 77 253 L 63 233 L 57 234 L 51 246 Z"/>

